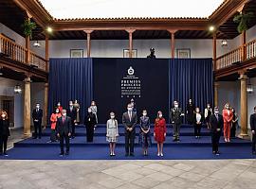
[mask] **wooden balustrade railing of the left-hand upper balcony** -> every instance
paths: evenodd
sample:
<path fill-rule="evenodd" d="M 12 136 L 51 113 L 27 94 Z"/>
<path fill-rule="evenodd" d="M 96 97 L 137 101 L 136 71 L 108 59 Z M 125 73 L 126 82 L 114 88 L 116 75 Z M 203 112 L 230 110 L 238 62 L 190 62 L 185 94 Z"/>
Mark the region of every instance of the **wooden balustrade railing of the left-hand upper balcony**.
<path fill-rule="evenodd" d="M 47 61 L 44 58 L 29 51 L 29 60 L 27 59 L 27 48 L 16 44 L 9 38 L 0 34 L 0 53 L 11 60 L 16 60 L 24 64 L 35 65 L 39 69 L 46 71 Z M 28 61 L 27 61 L 28 60 Z"/>

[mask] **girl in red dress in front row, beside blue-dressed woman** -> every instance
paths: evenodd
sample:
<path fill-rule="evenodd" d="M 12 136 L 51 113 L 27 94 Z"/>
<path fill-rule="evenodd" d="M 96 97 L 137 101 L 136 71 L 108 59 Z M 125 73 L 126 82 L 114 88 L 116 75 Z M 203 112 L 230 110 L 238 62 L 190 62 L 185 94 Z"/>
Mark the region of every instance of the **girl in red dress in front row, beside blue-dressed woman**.
<path fill-rule="evenodd" d="M 157 143 L 157 156 L 163 156 L 163 143 L 166 137 L 166 121 L 162 112 L 157 112 L 155 119 L 154 137 Z"/>

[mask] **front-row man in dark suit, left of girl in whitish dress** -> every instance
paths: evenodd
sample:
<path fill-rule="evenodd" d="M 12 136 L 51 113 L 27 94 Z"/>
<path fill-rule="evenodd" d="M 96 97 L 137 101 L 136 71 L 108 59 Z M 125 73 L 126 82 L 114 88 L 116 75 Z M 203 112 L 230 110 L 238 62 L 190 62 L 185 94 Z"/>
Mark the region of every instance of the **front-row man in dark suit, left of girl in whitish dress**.
<path fill-rule="evenodd" d="M 64 141 L 65 141 L 65 155 L 69 154 L 69 137 L 71 136 L 71 118 L 66 116 L 66 111 L 63 110 L 63 116 L 60 117 L 56 125 L 57 136 L 60 139 L 61 153 L 64 156 Z"/>

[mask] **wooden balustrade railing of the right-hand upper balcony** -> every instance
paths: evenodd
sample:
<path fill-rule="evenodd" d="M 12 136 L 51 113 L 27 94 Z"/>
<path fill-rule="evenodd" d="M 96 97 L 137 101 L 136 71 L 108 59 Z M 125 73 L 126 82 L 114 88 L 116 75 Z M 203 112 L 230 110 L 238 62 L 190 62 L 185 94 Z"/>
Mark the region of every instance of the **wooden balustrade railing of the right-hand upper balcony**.
<path fill-rule="evenodd" d="M 243 48 L 245 48 L 245 52 Z M 243 53 L 245 53 L 245 59 L 243 59 Z M 216 59 L 215 70 L 226 68 L 236 62 L 242 62 L 243 60 L 250 60 L 252 58 L 256 58 L 256 40 L 246 43 L 245 46 L 240 46 L 231 52 L 218 57 Z"/>

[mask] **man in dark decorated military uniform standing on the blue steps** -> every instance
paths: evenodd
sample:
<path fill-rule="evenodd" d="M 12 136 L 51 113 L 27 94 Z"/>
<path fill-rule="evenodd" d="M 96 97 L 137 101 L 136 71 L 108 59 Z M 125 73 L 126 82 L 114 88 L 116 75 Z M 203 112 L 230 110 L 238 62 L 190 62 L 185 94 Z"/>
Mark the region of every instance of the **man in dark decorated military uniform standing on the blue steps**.
<path fill-rule="evenodd" d="M 171 109 L 170 112 L 170 118 L 171 123 L 174 127 L 174 140 L 179 142 L 179 132 L 180 132 L 180 125 L 182 122 L 182 116 L 184 116 L 184 113 L 182 112 L 181 108 L 178 107 L 178 102 L 174 101 L 174 108 Z"/>

